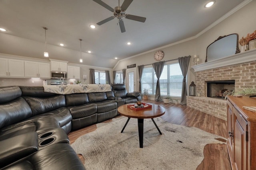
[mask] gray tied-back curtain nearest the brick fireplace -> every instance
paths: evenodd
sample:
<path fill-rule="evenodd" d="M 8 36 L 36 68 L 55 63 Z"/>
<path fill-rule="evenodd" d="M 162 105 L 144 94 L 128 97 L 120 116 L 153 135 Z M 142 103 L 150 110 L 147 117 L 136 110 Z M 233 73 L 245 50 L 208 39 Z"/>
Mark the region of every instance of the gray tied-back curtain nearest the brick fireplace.
<path fill-rule="evenodd" d="M 186 105 L 187 104 L 187 84 L 186 84 L 186 75 L 188 72 L 188 65 L 189 65 L 189 61 L 190 61 L 190 57 L 191 56 L 185 56 L 185 57 L 179 57 L 178 61 L 180 64 L 180 69 L 183 75 L 183 81 L 182 81 L 182 92 L 181 92 L 181 100 L 180 100 L 180 104 L 182 105 Z"/>

